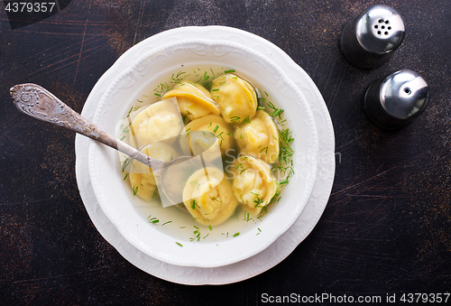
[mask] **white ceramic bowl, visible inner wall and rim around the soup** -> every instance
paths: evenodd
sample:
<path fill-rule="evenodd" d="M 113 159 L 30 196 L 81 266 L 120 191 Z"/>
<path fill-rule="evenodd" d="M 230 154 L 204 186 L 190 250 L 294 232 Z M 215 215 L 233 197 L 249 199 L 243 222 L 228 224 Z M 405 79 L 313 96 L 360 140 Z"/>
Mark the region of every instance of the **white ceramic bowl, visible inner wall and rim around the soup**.
<path fill-rule="evenodd" d="M 283 116 L 287 119 L 286 126 L 290 127 L 295 138 L 291 144 L 295 152 L 295 175 L 283 188 L 281 200 L 272 206 L 262 221 L 254 220 L 252 226 L 245 226 L 242 230 L 215 227 L 214 230 L 220 232 L 216 235 L 217 240 L 190 241 L 189 237 L 196 236 L 193 235 L 193 226 L 198 226 L 192 221 L 183 229 L 166 229 L 176 222 L 162 226 L 170 220 L 171 214 L 183 214 L 175 207 L 152 210 L 157 211 L 154 216 L 161 222 L 148 222 L 146 203 L 133 197 L 130 186 L 124 181 L 117 152 L 103 144 L 92 143 L 89 147 L 88 168 L 98 203 L 106 218 L 132 246 L 167 264 L 216 267 L 234 264 L 258 254 L 299 218 L 316 178 L 318 135 L 306 99 L 283 71 L 262 54 L 225 41 L 185 40 L 168 43 L 143 54 L 106 88 L 97 107 L 94 123 L 106 132 L 115 134 L 115 125 L 136 105 L 136 100 L 143 96 L 143 92 L 148 92 L 151 98 L 152 88 L 161 79 L 197 65 L 235 69 L 244 78 L 253 81 L 255 87 L 269 93 L 272 101 L 285 110 Z M 234 237 L 238 231 L 240 235 Z M 204 228 L 202 237 L 207 234 L 212 233 Z"/>

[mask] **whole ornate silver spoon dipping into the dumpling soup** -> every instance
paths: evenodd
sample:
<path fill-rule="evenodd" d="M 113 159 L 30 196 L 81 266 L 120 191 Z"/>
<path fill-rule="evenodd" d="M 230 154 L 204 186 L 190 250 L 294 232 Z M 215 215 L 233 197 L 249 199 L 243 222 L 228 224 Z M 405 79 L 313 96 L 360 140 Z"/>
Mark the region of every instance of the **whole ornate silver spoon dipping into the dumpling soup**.
<path fill-rule="evenodd" d="M 162 162 L 148 156 L 128 144 L 116 139 L 114 136 L 106 133 L 97 125 L 87 121 L 83 116 L 78 115 L 72 108 L 64 104 L 58 97 L 39 85 L 26 83 L 15 85 L 10 89 L 14 105 L 23 114 L 32 116 L 35 119 L 49 122 L 52 125 L 62 126 L 66 129 L 83 134 L 91 139 L 97 140 L 102 144 L 112 147 L 122 153 L 127 154 L 134 160 L 143 162 L 152 168 L 155 174 L 161 177 L 161 187 L 164 194 L 173 204 L 178 204 L 180 186 L 186 181 L 181 175 L 174 175 L 170 169 L 171 165 L 179 162 L 193 160 L 191 156 L 180 156 L 170 162 Z M 164 181 L 165 175 L 168 179 Z M 178 181 L 180 180 L 180 181 Z"/>

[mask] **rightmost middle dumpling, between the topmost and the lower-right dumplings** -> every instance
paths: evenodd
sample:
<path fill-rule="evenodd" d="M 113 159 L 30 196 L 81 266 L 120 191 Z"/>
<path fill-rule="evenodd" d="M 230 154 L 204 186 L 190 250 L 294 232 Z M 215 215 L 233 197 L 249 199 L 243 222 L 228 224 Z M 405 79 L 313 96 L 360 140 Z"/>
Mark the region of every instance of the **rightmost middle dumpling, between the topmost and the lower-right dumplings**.
<path fill-rule="evenodd" d="M 242 153 L 273 163 L 279 157 L 279 132 L 268 113 L 258 110 L 250 123 L 236 128 L 236 143 Z"/>

